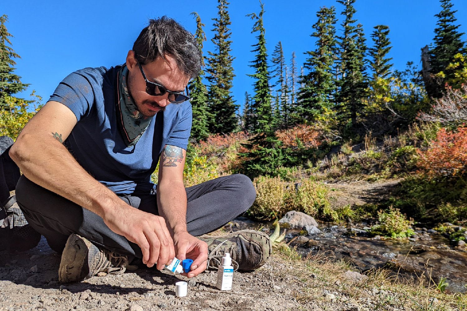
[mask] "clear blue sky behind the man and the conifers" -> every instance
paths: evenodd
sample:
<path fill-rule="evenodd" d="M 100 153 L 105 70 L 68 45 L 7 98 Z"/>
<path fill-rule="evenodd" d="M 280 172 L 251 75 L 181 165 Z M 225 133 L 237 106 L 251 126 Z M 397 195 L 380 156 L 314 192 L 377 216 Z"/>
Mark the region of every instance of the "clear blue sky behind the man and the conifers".
<path fill-rule="evenodd" d="M 467 1 L 453 0 L 460 31 L 467 32 Z M 268 54 L 278 41 L 282 41 L 287 62 L 293 51 L 297 65 L 304 63 L 304 52 L 314 49 L 310 37 L 316 12 L 321 6 L 337 8 L 339 24 L 343 7 L 333 0 L 263 0 L 265 4 L 264 26 Z M 122 64 L 127 51 L 148 19 L 167 15 L 176 19 L 194 33 L 196 22 L 190 15 L 196 11 L 205 23 L 208 41 L 204 55 L 213 51 L 210 39 L 212 18 L 217 14 L 216 0 L 172 1 L 123 1 L 123 0 L 1 0 L 0 14 L 7 14 L 8 31 L 13 49 L 21 56 L 17 59 L 16 74 L 23 83 L 31 84 L 28 92 L 20 94 L 29 98 L 34 89 L 43 97 L 43 103 L 57 84 L 69 73 L 85 67 L 110 67 Z M 402 70 L 407 61 L 420 63 L 420 49 L 432 42 L 436 26 L 434 14 L 439 13 L 438 0 L 357 0 L 355 18 L 363 24 L 367 43 L 378 24 L 388 25 L 393 49 L 395 69 Z M 248 67 L 254 59 L 250 52 L 256 43 L 251 34 L 253 21 L 249 13 L 259 13 L 259 2 L 231 0 L 229 5 L 232 21 L 233 96 L 237 104 L 243 104 L 245 91 L 252 93 L 253 73 Z M 338 33 L 341 32 L 338 26 Z"/>

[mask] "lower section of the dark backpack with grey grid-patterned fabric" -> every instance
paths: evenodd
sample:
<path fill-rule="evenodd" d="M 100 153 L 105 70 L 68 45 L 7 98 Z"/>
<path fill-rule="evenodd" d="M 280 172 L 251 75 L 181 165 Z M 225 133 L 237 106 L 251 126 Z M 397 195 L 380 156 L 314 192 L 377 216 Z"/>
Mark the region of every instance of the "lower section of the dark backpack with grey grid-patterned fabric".
<path fill-rule="evenodd" d="M 8 198 L 0 207 L 0 250 L 25 251 L 36 247 L 41 234 L 24 218 L 16 196 Z"/>

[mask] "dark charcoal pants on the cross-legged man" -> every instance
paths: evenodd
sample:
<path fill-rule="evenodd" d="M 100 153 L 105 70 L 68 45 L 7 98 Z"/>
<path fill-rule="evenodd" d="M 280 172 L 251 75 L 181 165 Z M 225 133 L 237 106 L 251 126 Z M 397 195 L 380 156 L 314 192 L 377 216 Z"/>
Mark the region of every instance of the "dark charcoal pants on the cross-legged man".
<path fill-rule="evenodd" d="M 253 204 L 255 187 L 245 175 L 219 177 L 186 188 L 186 221 L 194 236 L 212 232 L 239 216 Z M 120 196 L 129 205 L 157 215 L 156 193 Z M 58 253 L 71 233 L 77 233 L 96 245 L 142 258 L 138 245 L 110 230 L 99 215 L 65 199 L 21 176 L 16 199 L 29 224 L 41 233 Z"/>

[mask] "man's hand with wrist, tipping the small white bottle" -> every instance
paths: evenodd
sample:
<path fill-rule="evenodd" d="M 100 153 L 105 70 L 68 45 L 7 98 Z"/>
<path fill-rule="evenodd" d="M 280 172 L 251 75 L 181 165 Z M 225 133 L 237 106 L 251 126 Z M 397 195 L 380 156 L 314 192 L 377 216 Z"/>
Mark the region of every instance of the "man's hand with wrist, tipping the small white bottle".
<path fill-rule="evenodd" d="M 157 269 L 162 270 L 174 259 L 174 243 L 162 217 L 128 205 L 115 207 L 106 213 L 104 222 L 110 230 L 141 248 L 142 261 L 149 268 L 157 262 Z"/>

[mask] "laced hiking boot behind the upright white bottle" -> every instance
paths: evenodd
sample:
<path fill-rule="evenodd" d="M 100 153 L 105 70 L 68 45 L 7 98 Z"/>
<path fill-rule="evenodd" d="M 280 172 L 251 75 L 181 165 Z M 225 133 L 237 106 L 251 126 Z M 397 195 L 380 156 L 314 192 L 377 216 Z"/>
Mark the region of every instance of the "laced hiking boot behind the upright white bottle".
<path fill-rule="evenodd" d="M 198 239 L 208 246 L 207 269 L 217 269 L 227 252 L 234 270 L 255 270 L 268 260 L 272 252 L 269 236 L 255 230 L 240 230 L 223 236 L 201 235 Z"/>

